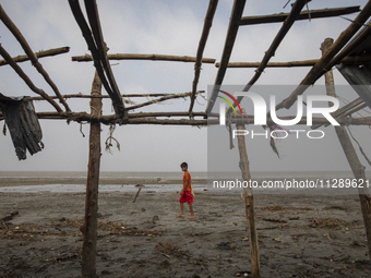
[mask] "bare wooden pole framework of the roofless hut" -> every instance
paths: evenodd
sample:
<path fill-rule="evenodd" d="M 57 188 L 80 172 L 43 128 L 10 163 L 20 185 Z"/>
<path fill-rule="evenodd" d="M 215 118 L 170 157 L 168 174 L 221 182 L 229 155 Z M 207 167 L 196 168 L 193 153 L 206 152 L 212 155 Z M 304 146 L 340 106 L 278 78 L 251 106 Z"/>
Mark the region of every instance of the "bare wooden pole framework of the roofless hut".
<path fill-rule="evenodd" d="M 212 94 L 208 99 L 206 111 L 193 111 L 193 106 L 195 97 L 198 94 L 203 92 L 198 92 L 198 83 L 201 73 L 202 63 L 215 63 L 215 59 L 203 58 L 203 51 L 207 41 L 207 37 L 212 27 L 213 17 L 218 4 L 217 0 L 211 0 L 210 5 L 205 15 L 204 27 L 202 36 L 199 43 L 199 48 L 196 51 L 196 57 L 175 57 L 175 56 L 159 56 L 159 55 L 129 55 L 129 53 L 118 53 L 108 55 L 108 46 L 106 45 L 103 36 L 103 32 L 99 23 L 98 7 L 95 0 L 85 0 L 85 8 L 87 14 L 87 21 L 81 10 L 79 0 L 69 0 L 72 14 L 85 38 L 86 45 L 91 51 L 91 55 L 85 55 L 81 57 L 72 57 L 72 61 L 93 61 L 96 69 L 96 75 L 94 76 L 94 82 L 92 85 L 91 95 L 62 95 L 57 85 L 51 81 L 47 72 L 43 69 L 41 64 L 38 62 L 39 58 L 47 56 L 55 56 L 60 53 L 65 53 L 69 51 L 68 47 L 60 49 L 50 49 L 47 51 L 34 52 L 28 46 L 26 39 L 23 37 L 22 33 L 15 24 L 9 19 L 5 11 L 0 4 L 0 20 L 4 25 L 12 32 L 14 37 L 19 40 L 22 48 L 24 49 L 26 56 L 19 56 L 12 58 L 7 50 L 0 45 L 0 55 L 3 60 L 0 61 L 0 67 L 10 65 L 19 74 L 19 76 L 27 84 L 31 90 L 39 95 L 39 97 L 28 97 L 25 100 L 46 100 L 48 101 L 56 111 L 50 112 L 38 112 L 38 119 L 63 119 L 69 121 L 86 121 L 91 123 L 91 138 L 89 138 L 89 162 L 88 162 L 88 177 L 86 186 L 86 206 L 85 206 L 85 223 L 83 227 L 83 277 L 95 277 L 95 256 L 96 256 L 96 221 L 97 221 L 97 201 L 98 201 L 98 179 L 99 179 L 99 154 L 100 154 L 100 124 L 170 124 L 170 125 L 198 125 L 206 126 L 208 124 L 218 124 L 218 114 L 211 113 L 217 93 Z M 348 55 L 351 50 L 368 37 L 371 36 L 371 32 L 364 33 L 362 36 L 358 37 L 352 44 L 348 44 L 355 34 L 366 24 L 367 20 L 371 16 L 371 1 L 369 1 L 366 7 L 360 11 L 359 7 L 349 7 L 340 9 L 325 9 L 310 12 L 302 12 L 303 8 L 308 3 L 308 0 L 297 0 L 292 4 L 291 12 L 288 14 L 276 14 L 267 16 L 249 16 L 242 17 L 246 0 L 235 0 L 232 12 L 230 15 L 229 26 L 226 35 L 225 46 L 220 63 L 215 65 L 218 68 L 217 75 L 215 78 L 214 87 L 220 86 L 223 84 L 224 76 L 226 74 L 227 68 L 236 67 L 252 67 L 258 68 L 254 76 L 247 83 L 243 88 L 248 92 L 249 88 L 255 84 L 263 71 L 268 67 L 311 67 L 308 75 L 302 80 L 297 89 L 295 89 L 290 96 L 288 96 L 284 101 L 277 105 L 276 109 L 290 108 L 298 95 L 303 94 L 304 87 L 301 85 L 312 85 L 318 81 L 318 78 L 330 72 L 331 69 L 338 63 L 364 63 L 370 62 L 371 56 L 366 55 L 362 57 L 349 57 Z M 319 19 L 328 16 L 338 16 L 344 14 L 349 14 L 354 12 L 359 12 L 358 16 L 354 22 L 349 24 L 349 27 L 345 29 L 340 36 L 331 46 L 323 48 L 323 56 L 320 59 L 310 61 L 297 61 L 297 62 L 286 62 L 286 63 L 270 63 L 271 58 L 275 55 L 279 44 L 285 38 L 286 34 L 289 32 L 290 27 L 298 20 L 308 19 Z M 250 24 L 262 24 L 262 23 L 273 23 L 283 22 L 283 26 L 274 38 L 270 49 L 265 52 L 262 61 L 260 63 L 229 63 L 229 59 L 234 49 L 234 44 L 240 26 Z M 109 60 L 118 59 L 132 59 L 132 60 L 163 60 L 163 61 L 183 61 L 183 62 L 194 62 L 194 80 L 192 83 L 192 92 L 182 94 L 149 94 L 149 95 L 121 95 L 119 87 L 116 83 L 113 73 L 110 69 Z M 37 71 L 43 75 L 43 77 L 50 85 L 56 96 L 47 95 L 43 89 L 37 88 L 28 76 L 22 71 L 17 65 L 19 62 L 31 60 L 32 64 L 37 69 Z M 327 80 L 326 80 L 327 82 Z M 103 96 L 100 94 L 101 86 L 108 93 L 108 96 Z M 141 105 L 125 106 L 123 97 L 159 97 L 157 99 L 143 102 Z M 101 114 L 101 99 L 110 98 L 112 100 L 112 106 L 115 108 L 113 114 Z M 130 112 L 133 109 L 149 106 L 160 101 L 175 98 L 190 97 L 190 108 L 188 112 L 184 111 L 173 111 L 173 112 L 146 112 L 146 113 L 133 113 Z M 91 99 L 91 113 L 87 112 L 75 112 L 71 111 L 67 99 L 69 98 L 89 98 Z M 60 104 L 63 105 L 63 109 L 55 99 L 58 99 Z M 238 98 L 241 101 L 242 97 Z M 359 124 L 359 125 L 370 125 L 371 118 L 352 118 L 351 114 L 361 108 L 364 108 L 364 104 L 361 99 L 356 99 L 351 104 L 343 107 L 336 112 L 336 119 L 340 124 Z M 182 117 L 179 119 L 179 117 Z M 158 119 L 160 118 L 160 119 Z M 168 118 L 168 119 L 163 119 Z M 199 118 L 199 119 L 195 119 Z M 207 119 L 208 118 L 208 119 Z M 292 117 L 287 117 L 290 119 Z M 246 114 L 243 119 L 248 119 L 249 122 L 253 121 L 253 116 Z M 283 118 L 284 119 L 284 118 Z M 3 120 L 3 116 L 0 113 L 0 120 Z M 306 123 L 306 118 L 303 118 L 300 123 Z M 237 118 L 235 122 L 238 129 L 243 129 L 246 122 L 241 121 L 241 118 Z M 267 124 L 272 124 L 272 120 L 267 117 Z M 328 124 L 327 120 L 324 118 L 314 118 L 313 128 L 319 128 L 322 124 Z M 349 140 L 345 138 L 345 130 L 339 130 L 338 137 L 342 142 L 344 149 L 351 148 L 349 146 Z M 345 143 L 347 142 L 347 143 Z M 240 158 L 241 158 L 241 173 L 244 180 L 251 179 L 249 170 L 249 160 L 247 156 L 247 148 L 244 145 L 244 140 L 238 140 Z M 344 144 L 343 144 L 344 143 Z M 351 145 L 351 144 L 350 144 Z M 349 152 L 348 152 L 349 153 Z M 361 166 L 357 160 L 357 155 L 355 152 L 350 152 L 351 157 L 348 157 L 350 166 L 356 165 L 354 172 L 356 177 L 364 177 L 361 173 Z M 363 176 L 362 176 L 363 174 Z M 254 228 L 254 207 L 253 207 L 253 195 L 251 189 L 246 191 L 246 208 L 247 218 L 249 221 L 249 233 L 250 233 L 250 246 L 251 247 L 251 262 L 252 262 L 252 275 L 253 277 L 260 277 L 260 263 L 259 263 L 259 246 L 256 230 Z M 367 230 L 367 238 L 369 242 L 369 253 L 371 254 L 371 215 L 369 214 L 367 207 L 370 206 L 370 194 L 368 192 L 360 192 L 361 207 L 363 214 L 364 226 Z"/>

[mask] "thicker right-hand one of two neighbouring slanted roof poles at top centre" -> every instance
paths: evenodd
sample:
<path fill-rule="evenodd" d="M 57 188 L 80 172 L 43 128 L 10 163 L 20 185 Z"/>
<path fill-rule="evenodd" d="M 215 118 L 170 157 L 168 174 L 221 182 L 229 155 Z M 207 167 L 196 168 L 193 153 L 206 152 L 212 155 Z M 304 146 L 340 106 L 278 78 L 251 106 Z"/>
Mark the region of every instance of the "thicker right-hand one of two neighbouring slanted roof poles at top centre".
<path fill-rule="evenodd" d="M 224 49 L 223 49 L 223 55 L 222 55 L 220 68 L 218 69 L 218 72 L 216 74 L 213 92 L 212 92 L 212 95 L 208 99 L 207 107 L 206 107 L 207 114 L 212 112 L 213 107 L 215 105 L 215 100 L 218 95 L 218 93 L 215 89 L 217 89 L 218 86 L 222 85 L 224 76 L 226 75 L 227 65 L 230 59 L 231 51 L 234 49 L 236 36 L 238 33 L 238 28 L 239 28 L 239 22 L 243 13 L 244 4 L 246 4 L 246 0 L 235 0 L 234 2 L 234 8 L 231 11 L 229 25 L 228 25 L 227 37 L 224 44 Z"/>

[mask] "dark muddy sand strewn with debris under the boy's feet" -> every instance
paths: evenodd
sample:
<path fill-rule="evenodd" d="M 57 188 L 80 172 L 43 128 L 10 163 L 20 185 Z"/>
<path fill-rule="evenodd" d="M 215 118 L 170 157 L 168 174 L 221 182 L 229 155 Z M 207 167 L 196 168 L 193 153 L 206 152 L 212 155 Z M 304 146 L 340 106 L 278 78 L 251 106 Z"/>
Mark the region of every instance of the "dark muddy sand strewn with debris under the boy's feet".
<path fill-rule="evenodd" d="M 244 203 L 198 194 L 99 194 L 99 277 L 237 277 L 250 270 Z M 0 193 L 0 277 L 80 277 L 83 193 Z M 188 210 L 185 210 L 188 213 Z M 358 197 L 255 196 L 262 277 L 370 277 Z"/>

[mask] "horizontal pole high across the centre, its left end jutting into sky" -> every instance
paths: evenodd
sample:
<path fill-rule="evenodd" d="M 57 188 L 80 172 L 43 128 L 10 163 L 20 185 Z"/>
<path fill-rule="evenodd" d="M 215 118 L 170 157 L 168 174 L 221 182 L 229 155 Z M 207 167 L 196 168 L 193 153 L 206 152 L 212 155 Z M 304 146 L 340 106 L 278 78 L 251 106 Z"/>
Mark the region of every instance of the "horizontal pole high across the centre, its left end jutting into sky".
<path fill-rule="evenodd" d="M 152 60 L 152 61 L 175 61 L 175 62 L 195 62 L 195 57 L 189 56 L 169 56 L 169 55 L 131 55 L 131 53 L 117 53 L 107 55 L 108 60 Z M 72 61 L 76 62 L 91 62 L 92 56 L 73 56 Z M 203 63 L 215 63 L 216 59 L 202 58 Z"/>

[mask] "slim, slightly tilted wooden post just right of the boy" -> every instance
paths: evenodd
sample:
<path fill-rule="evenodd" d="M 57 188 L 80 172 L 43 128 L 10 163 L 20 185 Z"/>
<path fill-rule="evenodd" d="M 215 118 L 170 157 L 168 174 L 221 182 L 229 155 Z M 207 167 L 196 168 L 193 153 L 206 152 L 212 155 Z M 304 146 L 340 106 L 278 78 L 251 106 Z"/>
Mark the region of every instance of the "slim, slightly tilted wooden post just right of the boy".
<path fill-rule="evenodd" d="M 244 130 L 244 124 L 241 122 L 237 123 L 237 130 Z M 240 133 L 242 134 L 242 133 Z M 240 169 L 243 181 L 249 182 L 251 180 L 248 152 L 246 148 L 244 136 L 237 135 L 238 149 L 240 153 Z M 254 213 L 254 196 L 251 188 L 243 188 L 246 213 L 249 223 L 249 243 L 250 243 L 250 255 L 251 255 L 251 274 L 253 278 L 260 278 L 260 261 L 259 261 L 259 244 L 258 233 L 255 226 L 255 213 Z"/>

